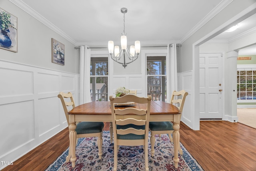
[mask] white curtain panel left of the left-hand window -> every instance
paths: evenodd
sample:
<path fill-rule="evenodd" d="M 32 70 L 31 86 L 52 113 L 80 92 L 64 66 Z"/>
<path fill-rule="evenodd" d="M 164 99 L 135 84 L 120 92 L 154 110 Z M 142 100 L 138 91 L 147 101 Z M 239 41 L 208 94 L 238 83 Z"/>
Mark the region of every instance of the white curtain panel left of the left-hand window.
<path fill-rule="evenodd" d="M 79 104 L 91 101 L 90 95 L 90 49 L 80 46 Z"/>

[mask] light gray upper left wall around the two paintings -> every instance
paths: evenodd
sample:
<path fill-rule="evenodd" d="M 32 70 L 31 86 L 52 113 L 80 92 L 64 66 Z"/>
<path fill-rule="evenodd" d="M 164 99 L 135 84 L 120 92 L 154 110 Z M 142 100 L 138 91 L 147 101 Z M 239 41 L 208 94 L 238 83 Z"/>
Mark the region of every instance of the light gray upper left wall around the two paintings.
<path fill-rule="evenodd" d="M 8 0 L 1 0 L 0 8 L 18 18 L 18 53 L 0 49 L 0 60 L 79 73 L 79 50 L 74 49 L 74 44 Z M 52 63 L 51 38 L 65 45 L 64 66 Z"/>

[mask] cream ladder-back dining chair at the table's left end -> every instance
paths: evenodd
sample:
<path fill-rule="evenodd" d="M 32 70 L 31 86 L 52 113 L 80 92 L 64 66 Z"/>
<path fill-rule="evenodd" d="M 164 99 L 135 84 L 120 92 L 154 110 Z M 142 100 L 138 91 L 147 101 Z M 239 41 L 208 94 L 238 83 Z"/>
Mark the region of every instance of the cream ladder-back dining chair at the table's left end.
<path fill-rule="evenodd" d="M 66 119 L 69 123 L 69 116 L 68 116 L 68 107 L 72 106 L 72 108 L 75 107 L 74 98 L 72 93 L 63 93 L 60 92 L 58 94 L 58 97 L 60 98 L 60 101 L 62 103 Z M 76 144 L 78 141 L 78 138 L 82 137 L 98 137 L 97 143 L 98 143 L 98 155 L 99 159 L 102 158 L 102 133 L 103 133 L 104 123 L 103 122 L 79 122 L 76 124 Z M 70 161 L 71 153 L 68 151 L 68 156 L 66 157 L 66 162 Z"/>

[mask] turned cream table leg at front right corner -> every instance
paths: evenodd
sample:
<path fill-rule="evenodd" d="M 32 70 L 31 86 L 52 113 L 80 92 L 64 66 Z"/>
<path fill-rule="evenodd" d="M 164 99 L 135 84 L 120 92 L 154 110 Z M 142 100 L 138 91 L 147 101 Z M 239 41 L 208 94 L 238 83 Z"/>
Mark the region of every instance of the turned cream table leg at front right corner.
<path fill-rule="evenodd" d="M 172 138 L 173 138 L 173 143 L 174 143 L 174 167 L 177 169 L 178 168 L 178 162 L 180 161 L 178 157 L 178 149 L 180 146 L 180 125 L 179 122 L 173 122 L 173 129 L 174 132 L 172 133 Z"/>

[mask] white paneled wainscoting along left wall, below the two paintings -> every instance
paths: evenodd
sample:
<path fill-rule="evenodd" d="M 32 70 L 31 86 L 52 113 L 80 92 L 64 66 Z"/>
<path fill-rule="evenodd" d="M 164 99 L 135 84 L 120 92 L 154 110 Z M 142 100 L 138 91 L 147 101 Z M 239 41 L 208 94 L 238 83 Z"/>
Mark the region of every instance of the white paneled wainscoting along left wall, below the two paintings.
<path fill-rule="evenodd" d="M 68 126 L 57 95 L 70 91 L 78 103 L 79 74 L 0 60 L 0 76 L 0 161 L 10 162 Z"/>

